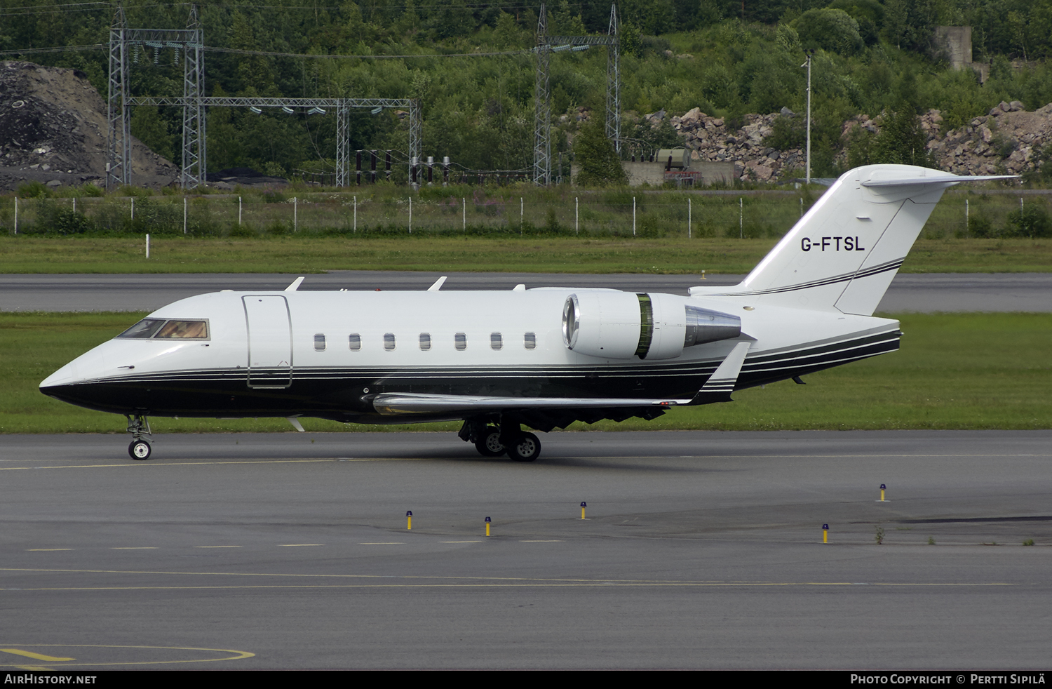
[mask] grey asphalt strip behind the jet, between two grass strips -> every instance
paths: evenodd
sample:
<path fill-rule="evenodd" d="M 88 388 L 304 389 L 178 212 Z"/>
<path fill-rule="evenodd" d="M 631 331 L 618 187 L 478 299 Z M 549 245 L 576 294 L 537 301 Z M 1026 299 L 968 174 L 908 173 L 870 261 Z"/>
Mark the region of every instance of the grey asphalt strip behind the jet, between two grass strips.
<path fill-rule="evenodd" d="M 306 276 L 300 289 L 426 289 L 441 273 L 332 270 Z M 443 289 L 610 287 L 686 295 L 694 285 L 733 285 L 745 276 L 451 272 Z M 284 289 L 296 275 L 0 275 L 0 311 L 150 311 L 221 289 Z M 877 310 L 1052 311 L 1052 272 L 899 273 Z"/>

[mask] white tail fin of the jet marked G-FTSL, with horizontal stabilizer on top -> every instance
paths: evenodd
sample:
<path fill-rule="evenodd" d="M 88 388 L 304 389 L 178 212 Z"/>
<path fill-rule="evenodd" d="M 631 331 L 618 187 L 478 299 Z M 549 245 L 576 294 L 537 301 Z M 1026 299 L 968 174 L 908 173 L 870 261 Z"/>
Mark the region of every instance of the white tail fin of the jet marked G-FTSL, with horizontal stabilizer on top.
<path fill-rule="evenodd" d="M 993 179 L 1006 177 L 958 177 L 912 165 L 856 167 L 836 180 L 741 284 L 722 293 L 871 316 L 943 191 Z"/>

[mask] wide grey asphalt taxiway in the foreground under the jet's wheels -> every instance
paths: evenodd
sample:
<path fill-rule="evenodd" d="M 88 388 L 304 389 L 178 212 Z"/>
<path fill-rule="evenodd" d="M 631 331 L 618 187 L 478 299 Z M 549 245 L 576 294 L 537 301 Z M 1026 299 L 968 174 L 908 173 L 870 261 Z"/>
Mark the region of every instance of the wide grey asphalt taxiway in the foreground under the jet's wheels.
<path fill-rule="evenodd" d="M 155 440 L 0 437 L 5 669 L 1048 665 L 1052 431 Z"/>

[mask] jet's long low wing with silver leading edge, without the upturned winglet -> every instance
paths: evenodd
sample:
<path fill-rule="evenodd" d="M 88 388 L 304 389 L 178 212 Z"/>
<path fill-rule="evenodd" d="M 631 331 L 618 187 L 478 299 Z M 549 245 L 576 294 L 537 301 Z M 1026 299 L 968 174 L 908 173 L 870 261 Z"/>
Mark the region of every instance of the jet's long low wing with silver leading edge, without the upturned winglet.
<path fill-rule="evenodd" d="M 505 398 L 468 394 L 418 394 L 384 392 L 372 400 L 372 408 L 385 417 L 486 413 L 514 409 L 602 409 L 613 407 L 672 407 L 690 400 L 609 398 Z"/>

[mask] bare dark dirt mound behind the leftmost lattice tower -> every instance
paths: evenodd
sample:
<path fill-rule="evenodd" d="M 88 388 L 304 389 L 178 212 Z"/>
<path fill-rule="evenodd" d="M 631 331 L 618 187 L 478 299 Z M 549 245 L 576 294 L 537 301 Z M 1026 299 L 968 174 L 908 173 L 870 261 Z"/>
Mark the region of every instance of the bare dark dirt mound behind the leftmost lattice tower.
<path fill-rule="evenodd" d="M 106 103 L 76 69 L 0 62 L 0 191 L 105 186 Z M 132 139 L 132 183 L 166 186 L 179 168 Z"/>

